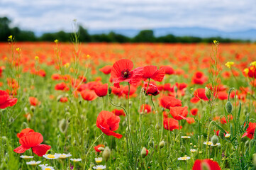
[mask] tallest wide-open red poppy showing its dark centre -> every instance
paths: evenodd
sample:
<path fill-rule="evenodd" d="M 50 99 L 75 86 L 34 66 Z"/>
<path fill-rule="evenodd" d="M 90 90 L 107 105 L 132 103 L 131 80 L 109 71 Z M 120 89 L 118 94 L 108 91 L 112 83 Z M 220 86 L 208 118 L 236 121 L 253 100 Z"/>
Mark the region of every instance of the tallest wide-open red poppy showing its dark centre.
<path fill-rule="evenodd" d="M 130 60 L 118 60 L 113 64 L 111 69 L 111 77 L 113 85 L 119 87 L 119 83 L 127 81 L 130 84 L 138 85 L 143 78 L 143 67 L 133 69 L 133 62 Z"/>

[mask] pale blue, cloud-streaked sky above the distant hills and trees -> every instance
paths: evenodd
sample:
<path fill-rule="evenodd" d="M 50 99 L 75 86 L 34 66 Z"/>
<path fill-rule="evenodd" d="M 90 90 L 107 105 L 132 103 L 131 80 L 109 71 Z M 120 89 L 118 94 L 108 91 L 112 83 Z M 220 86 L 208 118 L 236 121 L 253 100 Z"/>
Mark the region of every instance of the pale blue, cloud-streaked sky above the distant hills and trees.
<path fill-rule="evenodd" d="M 0 16 L 35 32 L 84 28 L 256 29 L 256 0 L 0 0 Z"/>

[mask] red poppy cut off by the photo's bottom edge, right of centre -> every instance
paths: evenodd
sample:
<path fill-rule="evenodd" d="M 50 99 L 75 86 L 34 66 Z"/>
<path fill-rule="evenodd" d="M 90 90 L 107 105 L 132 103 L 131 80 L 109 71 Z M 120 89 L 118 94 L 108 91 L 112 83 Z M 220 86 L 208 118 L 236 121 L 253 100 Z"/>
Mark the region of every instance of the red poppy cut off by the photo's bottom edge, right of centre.
<path fill-rule="evenodd" d="M 221 167 L 218 165 L 218 162 L 213 162 L 211 159 L 196 159 L 192 170 L 221 170 Z"/>

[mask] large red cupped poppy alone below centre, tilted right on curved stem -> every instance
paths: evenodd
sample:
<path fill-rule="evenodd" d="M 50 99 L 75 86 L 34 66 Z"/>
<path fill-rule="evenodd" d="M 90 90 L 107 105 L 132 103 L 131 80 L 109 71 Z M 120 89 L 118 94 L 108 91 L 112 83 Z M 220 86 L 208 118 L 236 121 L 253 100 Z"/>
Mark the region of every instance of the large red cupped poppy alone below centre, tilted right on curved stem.
<path fill-rule="evenodd" d="M 109 111 L 101 111 L 96 120 L 96 126 L 106 135 L 121 139 L 123 135 L 113 132 L 118 130 L 119 122 L 120 118 L 117 115 Z"/>

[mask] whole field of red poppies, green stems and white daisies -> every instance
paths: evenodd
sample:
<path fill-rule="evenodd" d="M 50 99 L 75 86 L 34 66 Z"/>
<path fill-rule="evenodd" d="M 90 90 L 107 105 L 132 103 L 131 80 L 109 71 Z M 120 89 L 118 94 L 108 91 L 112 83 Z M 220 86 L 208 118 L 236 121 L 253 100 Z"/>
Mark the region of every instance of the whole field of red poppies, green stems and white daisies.
<path fill-rule="evenodd" d="M 0 169 L 255 169 L 256 44 L 0 43 Z"/>

